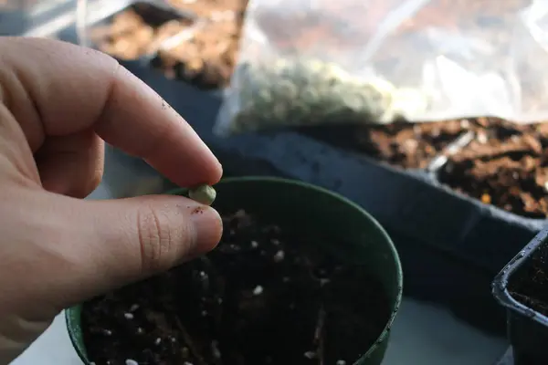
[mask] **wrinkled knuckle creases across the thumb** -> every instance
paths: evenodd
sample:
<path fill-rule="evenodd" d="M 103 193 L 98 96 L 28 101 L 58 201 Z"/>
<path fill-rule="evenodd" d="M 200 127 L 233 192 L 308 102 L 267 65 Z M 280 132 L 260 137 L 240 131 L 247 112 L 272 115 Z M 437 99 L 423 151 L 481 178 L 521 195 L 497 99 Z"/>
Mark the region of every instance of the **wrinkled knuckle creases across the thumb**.
<path fill-rule="evenodd" d="M 140 209 L 137 213 L 137 230 L 142 270 L 156 272 L 169 266 L 173 240 L 166 215 L 152 207 Z"/>

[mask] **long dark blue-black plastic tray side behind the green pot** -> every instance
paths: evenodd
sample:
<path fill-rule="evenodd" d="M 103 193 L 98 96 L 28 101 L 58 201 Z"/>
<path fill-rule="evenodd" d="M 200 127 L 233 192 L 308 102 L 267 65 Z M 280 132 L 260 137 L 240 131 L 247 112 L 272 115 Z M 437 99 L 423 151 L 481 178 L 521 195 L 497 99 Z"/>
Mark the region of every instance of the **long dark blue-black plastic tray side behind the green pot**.
<path fill-rule="evenodd" d="M 60 38 L 75 42 L 73 28 Z M 429 169 L 404 171 L 291 130 L 216 137 L 218 91 L 165 78 L 150 57 L 121 64 L 183 115 L 231 171 L 257 174 L 269 166 L 271 174 L 321 185 L 364 206 L 395 239 L 407 295 L 441 303 L 480 328 L 503 331 L 504 310 L 490 295 L 490 281 L 543 220 L 454 193 L 437 181 L 441 157 Z"/>

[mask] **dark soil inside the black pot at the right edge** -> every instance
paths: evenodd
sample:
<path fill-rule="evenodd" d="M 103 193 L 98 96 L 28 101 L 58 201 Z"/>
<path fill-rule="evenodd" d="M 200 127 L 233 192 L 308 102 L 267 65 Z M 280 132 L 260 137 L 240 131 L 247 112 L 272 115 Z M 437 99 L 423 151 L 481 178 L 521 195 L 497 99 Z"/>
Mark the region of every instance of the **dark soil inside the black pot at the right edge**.
<path fill-rule="evenodd" d="M 511 278 L 508 290 L 517 301 L 548 316 L 548 249 L 546 246 L 532 256 L 516 277 Z"/>

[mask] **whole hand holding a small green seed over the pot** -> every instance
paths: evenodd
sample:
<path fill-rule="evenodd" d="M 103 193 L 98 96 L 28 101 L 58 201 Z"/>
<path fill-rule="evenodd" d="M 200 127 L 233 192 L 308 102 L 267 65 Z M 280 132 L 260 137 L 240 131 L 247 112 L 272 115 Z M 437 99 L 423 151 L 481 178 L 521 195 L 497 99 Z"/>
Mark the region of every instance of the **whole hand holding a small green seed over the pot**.
<path fill-rule="evenodd" d="M 0 37 L 0 364 L 61 309 L 220 240 L 216 211 L 184 197 L 82 200 L 100 183 L 105 141 L 184 187 L 222 175 L 184 119 L 113 58 Z"/>

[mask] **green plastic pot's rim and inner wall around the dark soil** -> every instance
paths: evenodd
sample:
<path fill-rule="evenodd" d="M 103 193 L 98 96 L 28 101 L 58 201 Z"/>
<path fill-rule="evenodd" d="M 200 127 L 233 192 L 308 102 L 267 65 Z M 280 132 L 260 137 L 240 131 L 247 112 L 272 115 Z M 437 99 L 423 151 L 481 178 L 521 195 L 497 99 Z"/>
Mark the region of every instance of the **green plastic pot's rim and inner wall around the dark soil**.
<path fill-rule="evenodd" d="M 291 180 L 270 177 L 224 179 L 216 186 L 213 204 L 220 212 L 244 209 L 279 225 L 299 224 L 300 229 L 318 231 L 324 236 L 340 237 L 349 243 L 341 247 L 325 247 L 332 255 L 340 255 L 349 263 L 368 266 L 385 287 L 392 314 L 373 346 L 354 365 L 378 365 L 385 357 L 390 328 L 399 308 L 403 275 L 399 257 L 390 237 L 374 218 L 357 204 L 341 195 Z M 184 195 L 186 190 L 168 192 Z M 66 311 L 68 335 L 86 365 L 86 349 L 80 327 L 81 307 Z"/>

